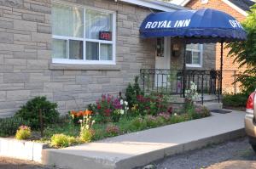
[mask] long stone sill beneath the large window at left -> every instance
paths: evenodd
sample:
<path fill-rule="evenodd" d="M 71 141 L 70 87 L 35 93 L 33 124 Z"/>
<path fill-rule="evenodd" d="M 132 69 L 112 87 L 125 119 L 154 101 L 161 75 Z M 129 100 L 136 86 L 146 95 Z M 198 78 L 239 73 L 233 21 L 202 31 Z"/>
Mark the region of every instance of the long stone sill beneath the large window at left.
<path fill-rule="evenodd" d="M 49 64 L 49 70 L 120 70 L 118 65 Z"/>

